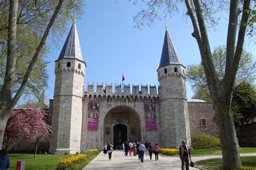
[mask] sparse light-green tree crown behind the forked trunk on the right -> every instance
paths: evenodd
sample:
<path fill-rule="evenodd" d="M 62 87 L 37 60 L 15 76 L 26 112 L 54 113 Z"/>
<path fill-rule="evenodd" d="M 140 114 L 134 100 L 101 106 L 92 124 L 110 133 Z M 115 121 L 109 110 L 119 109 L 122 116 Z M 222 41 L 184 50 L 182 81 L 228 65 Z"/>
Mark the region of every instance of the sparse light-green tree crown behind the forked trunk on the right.
<path fill-rule="evenodd" d="M 224 79 L 226 63 L 226 47 L 218 46 L 213 51 L 213 62 L 220 80 Z M 235 84 L 244 82 L 252 83 L 255 80 L 256 64 L 253 61 L 252 53 L 243 51 L 239 63 Z M 190 82 L 194 96 L 206 101 L 212 101 L 210 91 L 206 82 L 204 67 L 200 64 L 188 65 L 186 77 Z"/>

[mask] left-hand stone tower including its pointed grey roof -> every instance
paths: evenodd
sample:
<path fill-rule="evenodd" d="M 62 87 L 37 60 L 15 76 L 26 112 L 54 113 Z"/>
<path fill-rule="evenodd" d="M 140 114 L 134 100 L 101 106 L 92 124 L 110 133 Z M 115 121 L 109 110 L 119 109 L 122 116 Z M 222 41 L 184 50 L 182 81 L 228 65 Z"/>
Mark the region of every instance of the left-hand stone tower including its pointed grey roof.
<path fill-rule="evenodd" d="M 86 63 L 83 61 L 75 19 L 55 61 L 55 89 L 50 152 L 80 152 L 82 98 Z"/>

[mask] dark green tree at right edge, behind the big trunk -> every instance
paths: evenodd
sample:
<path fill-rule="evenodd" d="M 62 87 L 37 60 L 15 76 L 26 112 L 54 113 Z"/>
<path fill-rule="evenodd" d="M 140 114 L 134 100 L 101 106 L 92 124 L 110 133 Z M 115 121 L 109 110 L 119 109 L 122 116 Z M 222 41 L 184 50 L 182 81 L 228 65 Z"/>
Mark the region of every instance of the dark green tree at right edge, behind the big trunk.
<path fill-rule="evenodd" d="M 251 123 L 256 118 L 256 91 L 250 83 L 242 83 L 234 89 L 232 111 L 236 126 Z"/>

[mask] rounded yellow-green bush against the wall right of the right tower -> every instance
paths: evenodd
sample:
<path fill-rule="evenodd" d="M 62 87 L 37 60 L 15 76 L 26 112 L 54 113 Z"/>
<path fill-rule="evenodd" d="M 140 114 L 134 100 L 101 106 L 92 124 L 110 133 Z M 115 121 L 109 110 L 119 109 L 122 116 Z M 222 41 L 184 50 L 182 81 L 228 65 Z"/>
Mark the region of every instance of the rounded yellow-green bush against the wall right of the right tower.
<path fill-rule="evenodd" d="M 211 153 L 211 147 L 219 147 L 220 139 L 207 135 L 207 134 L 196 134 L 192 139 L 193 148 L 209 148 Z"/>

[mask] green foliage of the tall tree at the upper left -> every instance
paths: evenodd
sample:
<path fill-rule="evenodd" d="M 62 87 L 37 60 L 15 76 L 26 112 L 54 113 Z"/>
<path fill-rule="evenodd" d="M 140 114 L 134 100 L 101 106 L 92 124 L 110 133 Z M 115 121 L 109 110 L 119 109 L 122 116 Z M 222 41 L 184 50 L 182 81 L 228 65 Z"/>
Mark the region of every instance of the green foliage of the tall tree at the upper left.
<path fill-rule="evenodd" d="M 19 1 L 18 3 L 14 93 L 21 86 L 26 69 L 32 60 L 58 1 Z M 62 38 L 63 33 L 66 31 L 66 25 L 72 16 L 79 16 L 83 13 L 82 4 L 83 2 L 80 0 L 64 2 L 51 29 L 52 40 L 46 41 L 46 44 L 41 49 L 23 94 L 39 97 L 40 91 L 48 85 L 49 74 L 46 70 L 46 65 L 49 62 L 46 61 L 46 55 L 52 44 L 55 46 L 58 44 L 57 42 Z M 6 68 L 9 5 L 9 1 L 0 1 L 0 89 L 3 86 Z"/>

